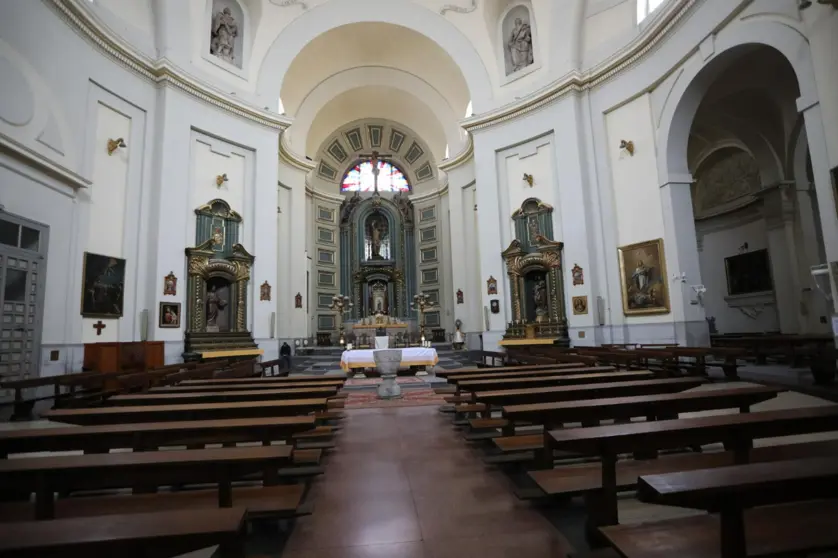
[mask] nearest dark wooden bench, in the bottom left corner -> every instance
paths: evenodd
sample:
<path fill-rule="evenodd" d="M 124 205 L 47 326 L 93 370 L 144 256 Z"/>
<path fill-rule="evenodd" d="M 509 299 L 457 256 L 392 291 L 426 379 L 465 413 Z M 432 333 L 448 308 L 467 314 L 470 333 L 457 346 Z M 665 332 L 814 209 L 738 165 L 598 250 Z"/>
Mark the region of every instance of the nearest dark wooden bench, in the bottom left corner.
<path fill-rule="evenodd" d="M 219 545 L 221 558 L 244 558 L 244 514 L 238 507 L 0 524 L 0 556 L 145 558 Z"/>

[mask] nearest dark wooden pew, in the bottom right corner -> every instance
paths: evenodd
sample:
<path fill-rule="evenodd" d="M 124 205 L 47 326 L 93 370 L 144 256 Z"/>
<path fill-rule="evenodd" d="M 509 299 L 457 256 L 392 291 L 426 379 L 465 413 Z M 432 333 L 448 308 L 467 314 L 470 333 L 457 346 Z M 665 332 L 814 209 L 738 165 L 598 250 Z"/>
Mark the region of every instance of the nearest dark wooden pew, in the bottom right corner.
<path fill-rule="evenodd" d="M 602 528 L 622 556 L 741 558 L 838 549 L 834 456 L 643 476 L 638 496 L 719 515 Z"/>

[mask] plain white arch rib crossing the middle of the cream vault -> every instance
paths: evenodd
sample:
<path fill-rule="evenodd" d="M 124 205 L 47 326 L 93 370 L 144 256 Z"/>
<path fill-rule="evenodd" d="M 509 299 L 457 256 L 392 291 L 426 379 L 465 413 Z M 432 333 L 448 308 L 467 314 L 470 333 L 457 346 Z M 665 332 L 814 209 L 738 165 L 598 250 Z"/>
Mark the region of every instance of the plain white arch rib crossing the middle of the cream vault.
<path fill-rule="evenodd" d="M 294 118 L 291 144 L 306 149 L 311 123 L 329 102 L 359 87 L 390 87 L 420 99 L 433 112 L 443 128 L 451 152 L 465 147 L 466 136 L 457 124 L 458 116 L 445 97 L 423 79 L 396 68 L 364 66 L 344 70 L 320 82 L 303 100 Z"/>

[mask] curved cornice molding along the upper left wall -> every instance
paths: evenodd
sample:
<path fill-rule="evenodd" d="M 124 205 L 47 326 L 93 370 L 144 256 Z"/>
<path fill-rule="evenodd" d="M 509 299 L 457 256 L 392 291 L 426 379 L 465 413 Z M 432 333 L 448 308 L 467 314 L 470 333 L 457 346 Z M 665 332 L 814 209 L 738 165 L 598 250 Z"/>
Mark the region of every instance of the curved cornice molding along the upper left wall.
<path fill-rule="evenodd" d="M 75 0 L 51 0 L 50 4 L 62 19 L 74 27 L 83 38 L 142 78 L 155 84 L 176 87 L 215 108 L 271 129 L 284 130 L 291 125 L 291 118 L 244 103 L 202 80 L 190 76 L 166 58 L 156 61 L 149 59 L 137 52 L 106 26 L 96 21 L 85 8 L 79 7 Z"/>

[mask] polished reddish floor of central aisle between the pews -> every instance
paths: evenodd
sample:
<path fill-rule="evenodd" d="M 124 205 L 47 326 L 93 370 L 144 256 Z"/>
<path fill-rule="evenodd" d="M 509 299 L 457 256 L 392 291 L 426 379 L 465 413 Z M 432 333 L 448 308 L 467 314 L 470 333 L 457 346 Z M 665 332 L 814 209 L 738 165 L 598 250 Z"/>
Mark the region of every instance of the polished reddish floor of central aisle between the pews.
<path fill-rule="evenodd" d="M 566 541 L 436 406 L 347 411 L 282 558 L 563 558 Z"/>

